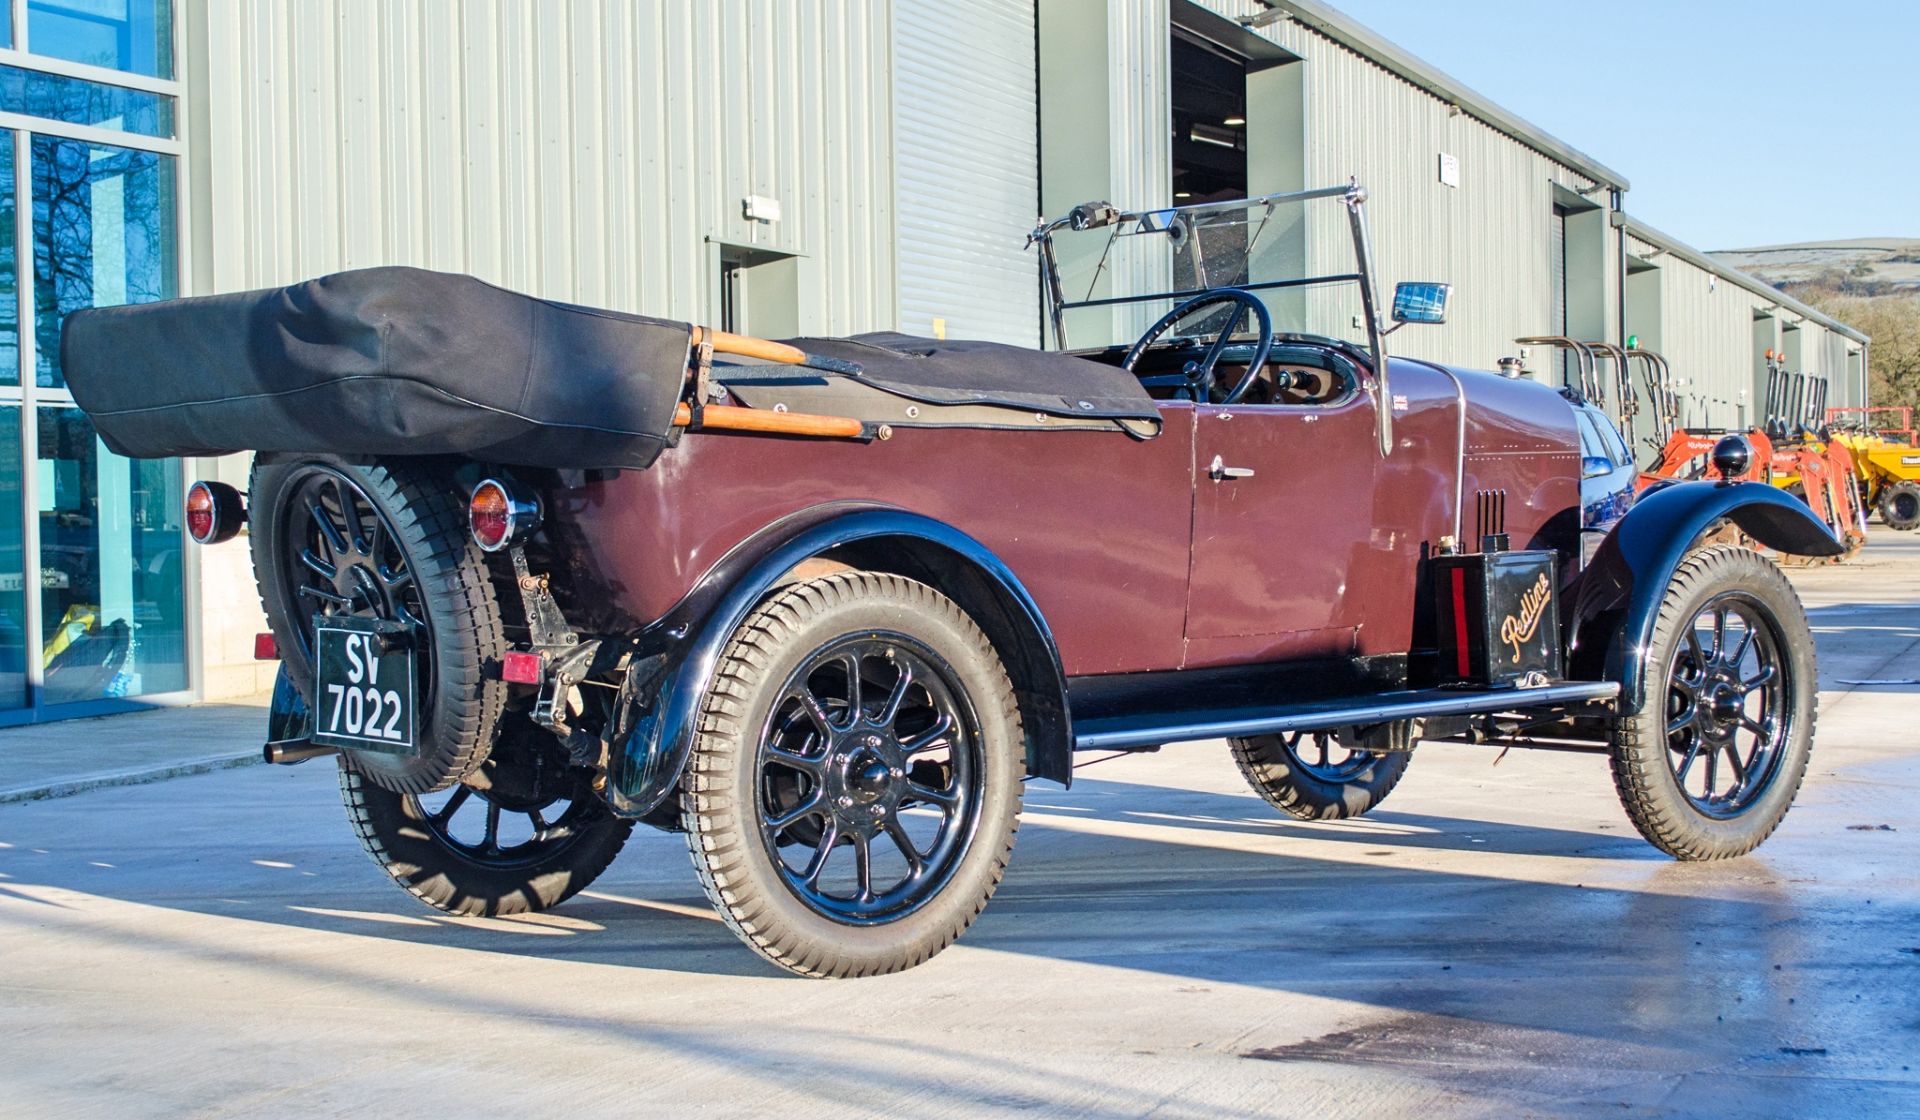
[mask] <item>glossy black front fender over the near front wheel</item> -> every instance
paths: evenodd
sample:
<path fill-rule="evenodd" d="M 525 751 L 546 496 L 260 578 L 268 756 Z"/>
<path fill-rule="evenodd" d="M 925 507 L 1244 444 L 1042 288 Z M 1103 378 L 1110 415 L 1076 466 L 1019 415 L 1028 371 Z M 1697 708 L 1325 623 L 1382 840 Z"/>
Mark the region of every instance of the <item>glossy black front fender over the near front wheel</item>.
<path fill-rule="evenodd" d="M 1764 482 L 1676 482 L 1647 490 L 1572 586 L 1567 626 L 1572 676 L 1620 682 L 1620 709 L 1640 711 L 1661 597 L 1692 544 L 1720 519 L 1774 551 L 1847 551 L 1805 501 Z"/>

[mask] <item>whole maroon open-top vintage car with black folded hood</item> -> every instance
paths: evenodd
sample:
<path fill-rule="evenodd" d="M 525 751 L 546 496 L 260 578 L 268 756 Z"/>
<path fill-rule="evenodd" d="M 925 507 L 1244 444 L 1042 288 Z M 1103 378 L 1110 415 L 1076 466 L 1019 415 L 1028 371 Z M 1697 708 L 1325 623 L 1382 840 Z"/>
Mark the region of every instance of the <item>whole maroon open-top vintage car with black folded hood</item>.
<path fill-rule="evenodd" d="M 1250 265 L 1321 200 L 1350 271 Z M 768 961 L 906 968 L 993 895 L 1025 780 L 1194 740 L 1304 818 L 1379 805 L 1421 740 L 1592 749 L 1663 851 L 1753 849 L 1807 770 L 1812 644 L 1770 563 L 1692 546 L 1837 542 L 1740 482 L 1584 521 L 1578 402 L 1386 363 L 1363 200 L 1077 207 L 1033 234 L 1052 352 L 372 269 L 83 311 L 65 369 L 123 453 L 257 451 L 188 524 L 252 530 L 267 757 L 338 755 L 367 849 L 451 913 L 557 905 L 645 822 Z M 1336 290 L 1357 342 L 1275 329 Z M 1444 302 L 1404 284 L 1394 325 Z M 1066 352 L 1089 323 L 1144 330 Z"/>

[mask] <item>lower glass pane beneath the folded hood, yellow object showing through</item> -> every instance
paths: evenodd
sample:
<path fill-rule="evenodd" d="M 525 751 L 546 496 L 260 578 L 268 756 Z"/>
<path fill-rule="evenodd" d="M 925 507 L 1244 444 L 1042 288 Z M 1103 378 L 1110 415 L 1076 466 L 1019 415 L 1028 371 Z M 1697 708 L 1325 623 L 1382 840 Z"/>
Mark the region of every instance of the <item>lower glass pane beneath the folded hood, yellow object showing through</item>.
<path fill-rule="evenodd" d="M 186 688 L 179 459 L 123 459 L 79 409 L 40 409 L 46 703 Z"/>

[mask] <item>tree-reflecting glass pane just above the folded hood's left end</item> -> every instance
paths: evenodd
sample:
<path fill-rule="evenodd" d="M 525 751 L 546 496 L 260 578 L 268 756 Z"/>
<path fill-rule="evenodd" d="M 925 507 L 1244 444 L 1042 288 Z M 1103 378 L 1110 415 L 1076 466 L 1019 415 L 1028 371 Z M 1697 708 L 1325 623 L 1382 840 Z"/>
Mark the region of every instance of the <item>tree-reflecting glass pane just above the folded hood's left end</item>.
<path fill-rule="evenodd" d="M 65 384 L 60 323 L 79 307 L 171 300 L 173 158 L 33 138 L 36 384 Z"/>

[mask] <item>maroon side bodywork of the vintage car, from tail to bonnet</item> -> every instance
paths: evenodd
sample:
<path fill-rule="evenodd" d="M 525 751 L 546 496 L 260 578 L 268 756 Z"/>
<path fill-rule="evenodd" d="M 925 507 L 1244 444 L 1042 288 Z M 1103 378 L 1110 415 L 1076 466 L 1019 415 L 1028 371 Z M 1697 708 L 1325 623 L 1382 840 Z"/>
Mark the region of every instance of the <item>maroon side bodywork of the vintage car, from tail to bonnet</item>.
<path fill-rule="evenodd" d="M 1373 394 L 1325 407 L 1167 402 L 1154 440 L 703 432 L 649 471 L 553 492 L 549 509 L 576 542 L 582 586 L 603 588 L 622 626 L 660 619 L 783 519 L 852 501 L 943 521 L 1006 561 L 1069 676 L 1405 653 L 1421 559 L 1475 532 L 1461 524 L 1463 484 L 1505 490 L 1515 546 L 1546 544 L 1578 507 L 1578 434 L 1567 402 L 1532 382 L 1394 361 L 1390 384 L 1384 459 L 1371 451 Z M 1215 455 L 1254 475 L 1215 480 Z"/>

